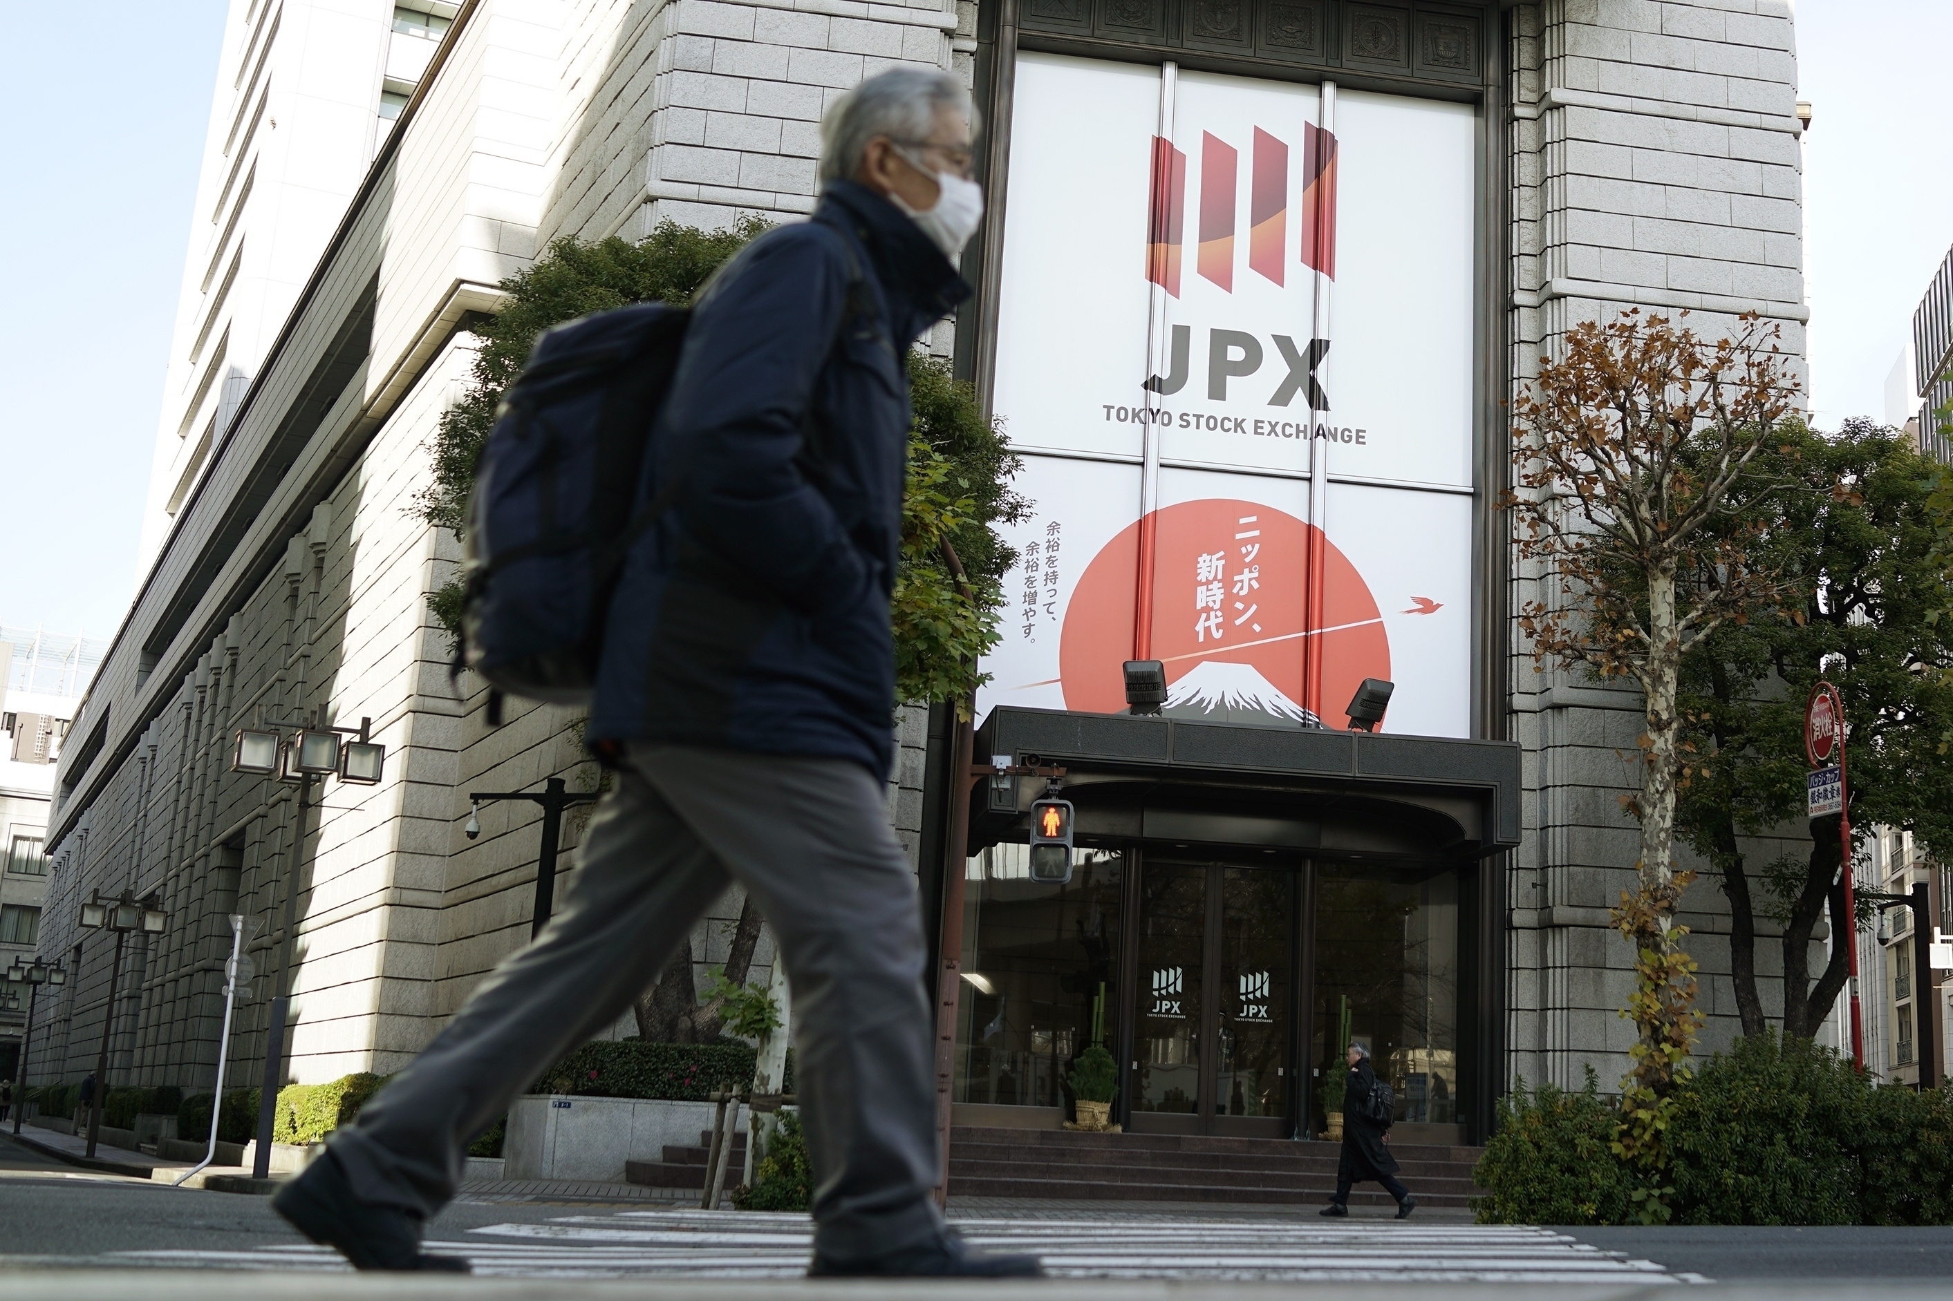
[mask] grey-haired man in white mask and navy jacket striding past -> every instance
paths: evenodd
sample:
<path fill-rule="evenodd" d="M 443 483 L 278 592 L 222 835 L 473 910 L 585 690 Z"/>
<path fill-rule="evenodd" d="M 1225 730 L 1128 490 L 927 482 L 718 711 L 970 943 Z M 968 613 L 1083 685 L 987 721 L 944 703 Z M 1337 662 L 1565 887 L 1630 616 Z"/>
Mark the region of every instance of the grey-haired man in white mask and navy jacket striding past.
<path fill-rule="evenodd" d="M 273 1200 L 359 1268 L 465 1268 L 420 1242 L 467 1143 L 738 882 L 793 975 L 809 1272 L 1039 1274 L 967 1250 L 932 1200 L 926 948 L 883 794 L 902 357 L 969 295 L 969 94 L 883 72 L 834 103 L 822 146 L 814 218 L 760 236 L 693 306 L 641 495 L 680 492 L 611 605 L 590 739 L 615 788 L 562 909 Z"/>

